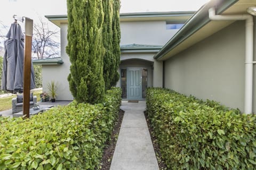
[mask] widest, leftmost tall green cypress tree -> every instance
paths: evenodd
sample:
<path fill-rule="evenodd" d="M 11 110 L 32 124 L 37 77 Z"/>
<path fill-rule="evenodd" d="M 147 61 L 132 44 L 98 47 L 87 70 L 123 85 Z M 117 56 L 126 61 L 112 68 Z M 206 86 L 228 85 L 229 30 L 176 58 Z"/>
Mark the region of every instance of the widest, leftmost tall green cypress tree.
<path fill-rule="evenodd" d="M 102 0 L 67 0 L 69 88 L 78 103 L 100 103 L 103 79 Z"/>

